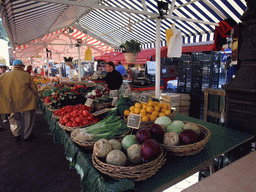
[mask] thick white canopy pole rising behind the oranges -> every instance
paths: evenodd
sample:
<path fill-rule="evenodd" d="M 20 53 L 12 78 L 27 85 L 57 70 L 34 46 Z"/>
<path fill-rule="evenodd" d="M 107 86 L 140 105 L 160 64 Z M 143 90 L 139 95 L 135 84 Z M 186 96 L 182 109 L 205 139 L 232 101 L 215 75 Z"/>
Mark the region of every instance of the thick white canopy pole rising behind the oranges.
<path fill-rule="evenodd" d="M 155 98 L 160 99 L 160 30 L 161 30 L 161 19 L 156 19 L 156 81 L 155 81 Z"/>

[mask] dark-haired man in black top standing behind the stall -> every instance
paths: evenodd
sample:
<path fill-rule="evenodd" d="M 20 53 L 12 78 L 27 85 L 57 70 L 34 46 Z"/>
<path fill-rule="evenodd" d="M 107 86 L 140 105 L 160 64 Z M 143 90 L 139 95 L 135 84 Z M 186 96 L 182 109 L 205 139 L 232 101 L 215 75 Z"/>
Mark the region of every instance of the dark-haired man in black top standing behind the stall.
<path fill-rule="evenodd" d="M 106 63 L 106 71 L 108 73 L 106 75 L 105 86 L 110 90 L 119 89 L 123 84 L 123 77 L 118 71 L 116 71 L 115 64 L 111 61 Z"/>

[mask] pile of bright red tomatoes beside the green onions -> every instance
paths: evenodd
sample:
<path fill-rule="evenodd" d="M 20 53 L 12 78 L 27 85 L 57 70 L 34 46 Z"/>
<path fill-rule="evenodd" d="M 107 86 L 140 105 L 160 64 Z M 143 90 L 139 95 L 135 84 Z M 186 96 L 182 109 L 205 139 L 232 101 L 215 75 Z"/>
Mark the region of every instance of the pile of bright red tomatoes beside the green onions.
<path fill-rule="evenodd" d="M 67 127 L 87 126 L 99 122 L 88 110 L 90 107 L 85 105 L 68 105 L 55 111 L 54 115 L 60 116 L 59 122 Z"/>

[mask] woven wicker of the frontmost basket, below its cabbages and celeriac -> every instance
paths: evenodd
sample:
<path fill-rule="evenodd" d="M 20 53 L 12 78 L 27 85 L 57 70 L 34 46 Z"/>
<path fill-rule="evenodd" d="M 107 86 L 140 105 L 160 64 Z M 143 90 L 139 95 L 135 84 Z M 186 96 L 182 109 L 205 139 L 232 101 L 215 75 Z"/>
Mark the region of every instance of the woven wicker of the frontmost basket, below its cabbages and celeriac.
<path fill-rule="evenodd" d="M 145 180 L 154 174 L 163 166 L 165 163 L 165 152 L 162 150 L 158 158 L 149 163 L 144 163 L 136 166 L 115 166 L 102 162 L 98 157 L 93 153 L 92 154 L 92 163 L 96 169 L 100 172 L 109 175 L 115 179 L 132 179 L 134 181 Z"/>

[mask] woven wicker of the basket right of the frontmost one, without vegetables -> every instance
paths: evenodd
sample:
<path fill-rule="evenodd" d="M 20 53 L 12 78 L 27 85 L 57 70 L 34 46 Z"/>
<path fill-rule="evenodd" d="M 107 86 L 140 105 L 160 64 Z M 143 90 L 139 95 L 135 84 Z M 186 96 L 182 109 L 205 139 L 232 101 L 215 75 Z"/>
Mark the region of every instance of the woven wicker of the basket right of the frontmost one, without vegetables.
<path fill-rule="evenodd" d="M 186 122 L 184 122 L 186 123 Z M 209 141 L 211 132 L 204 126 L 197 124 L 197 126 L 201 130 L 201 134 L 203 139 L 199 142 L 188 144 L 188 145 L 177 145 L 177 146 L 169 146 L 161 144 L 162 147 L 172 154 L 176 156 L 189 156 L 189 155 L 195 155 L 199 153 L 206 145 L 206 143 Z"/>

